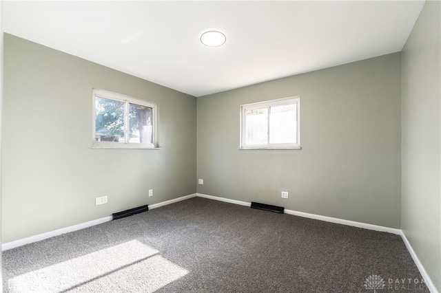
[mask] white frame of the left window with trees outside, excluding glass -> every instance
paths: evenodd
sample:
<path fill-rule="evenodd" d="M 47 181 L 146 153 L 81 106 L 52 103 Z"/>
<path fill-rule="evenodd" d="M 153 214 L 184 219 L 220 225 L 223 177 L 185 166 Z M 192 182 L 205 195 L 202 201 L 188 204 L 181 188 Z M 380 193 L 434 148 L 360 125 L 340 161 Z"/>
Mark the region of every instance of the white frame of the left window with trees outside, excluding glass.
<path fill-rule="evenodd" d="M 125 120 L 125 131 L 124 133 L 128 133 L 128 111 L 129 104 L 140 105 L 145 107 L 150 107 L 153 109 L 153 143 L 145 144 L 145 143 L 136 143 L 136 142 L 97 142 L 95 125 L 96 125 L 96 109 L 95 109 L 95 100 L 96 97 L 99 98 L 107 98 L 109 100 L 116 100 L 119 102 L 125 103 L 124 109 L 124 120 Z M 126 134 L 125 134 L 126 135 Z M 127 140 L 127 138 L 125 138 Z M 153 102 L 149 102 L 146 100 L 139 100 L 136 98 L 132 98 L 131 96 L 125 96 L 123 94 L 116 94 L 112 91 L 105 91 L 103 89 L 92 89 L 92 148 L 93 149 L 160 149 L 158 148 L 158 105 Z"/>

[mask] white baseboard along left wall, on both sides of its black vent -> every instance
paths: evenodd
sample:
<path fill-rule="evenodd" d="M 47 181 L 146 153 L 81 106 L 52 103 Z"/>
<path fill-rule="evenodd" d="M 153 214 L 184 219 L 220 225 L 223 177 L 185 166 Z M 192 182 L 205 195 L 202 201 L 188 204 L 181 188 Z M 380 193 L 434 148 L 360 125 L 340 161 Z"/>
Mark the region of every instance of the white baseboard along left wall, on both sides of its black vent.
<path fill-rule="evenodd" d="M 160 202 L 158 204 L 149 205 L 149 209 L 159 208 L 160 206 L 166 206 L 167 204 L 174 204 L 175 202 L 181 202 L 182 200 L 189 199 L 189 198 L 192 198 L 192 197 L 196 197 L 196 193 L 194 193 L 192 195 L 185 195 L 183 197 L 178 197 L 176 199 L 167 200 L 166 202 Z M 87 221 L 85 223 L 81 223 L 81 224 L 77 224 L 77 225 L 74 225 L 74 226 L 69 226 L 69 227 L 61 228 L 61 229 L 50 231 L 50 232 L 45 232 L 43 234 L 34 235 L 34 236 L 31 236 L 31 237 L 26 237 L 26 238 L 19 239 L 19 240 L 16 240 L 16 241 L 2 243 L 1 244 L 1 251 L 10 250 L 12 248 L 17 248 L 19 246 L 23 246 L 23 245 L 28 244 L 28 243 L 33 243 L 33 242 L 41 241 L 41 240 L 48 239 L 50 237 L 55 237 L 55 236 L 58 236 L 58 235 L 61 235 L 61 234 L 65 234 L 65 233 L 68 233 L 68 232 L 74 232 L 76 230 L 81 230 L 81 229 L 88 228 L 88 227 L 91 227 L 91 226 L 103 224 L 106 221 L 112 221 L 112 216 L 103 217 L 101 219 L 95 219 L 93 221 Z"/>

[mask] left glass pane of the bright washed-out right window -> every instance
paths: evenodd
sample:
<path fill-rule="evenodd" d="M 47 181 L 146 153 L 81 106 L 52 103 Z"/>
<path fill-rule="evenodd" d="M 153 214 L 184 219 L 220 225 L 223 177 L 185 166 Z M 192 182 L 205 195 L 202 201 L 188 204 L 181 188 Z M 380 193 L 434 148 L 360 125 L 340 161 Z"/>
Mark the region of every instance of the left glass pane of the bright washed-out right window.
<path fill-rule="evenodd" d="M 268 143 L 268 109 L 245 111 L 247 144 Z"/>

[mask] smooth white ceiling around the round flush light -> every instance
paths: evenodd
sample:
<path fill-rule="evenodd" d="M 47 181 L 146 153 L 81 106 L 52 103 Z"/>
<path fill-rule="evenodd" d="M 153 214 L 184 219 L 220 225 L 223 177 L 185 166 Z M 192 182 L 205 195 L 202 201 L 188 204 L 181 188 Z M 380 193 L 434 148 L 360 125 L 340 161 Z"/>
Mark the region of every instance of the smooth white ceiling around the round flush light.
<path fill-rule="evenodd" d="M 402 50 L 424 1 L 2 1 L 3 31 L 192 96 Z M 199 41 L 205 30 L 221 47 Z"/>

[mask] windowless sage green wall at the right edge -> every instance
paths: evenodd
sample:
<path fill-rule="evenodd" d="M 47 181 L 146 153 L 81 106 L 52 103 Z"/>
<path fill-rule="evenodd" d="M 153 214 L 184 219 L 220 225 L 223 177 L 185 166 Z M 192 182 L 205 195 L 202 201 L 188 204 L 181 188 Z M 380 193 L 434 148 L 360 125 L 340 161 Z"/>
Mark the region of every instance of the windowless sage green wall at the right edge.
<path fill-rule="evenodd" d="M 402 50 L 402 230 L 441 292 L 441 5 L 426 1 Z"/>

